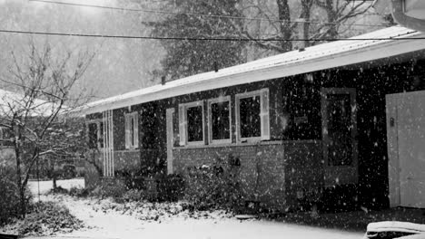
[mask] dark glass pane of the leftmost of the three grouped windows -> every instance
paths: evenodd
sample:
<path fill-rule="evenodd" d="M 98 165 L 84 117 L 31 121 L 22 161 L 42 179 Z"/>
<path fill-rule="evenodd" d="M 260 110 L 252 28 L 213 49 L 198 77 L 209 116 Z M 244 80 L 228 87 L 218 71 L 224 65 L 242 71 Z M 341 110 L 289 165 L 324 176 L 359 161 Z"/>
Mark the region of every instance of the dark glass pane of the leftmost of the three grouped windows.
<path fill-rule="evenodd" d="M 203 107 L 187 108 L 187 141 L 203 141 Z"/>

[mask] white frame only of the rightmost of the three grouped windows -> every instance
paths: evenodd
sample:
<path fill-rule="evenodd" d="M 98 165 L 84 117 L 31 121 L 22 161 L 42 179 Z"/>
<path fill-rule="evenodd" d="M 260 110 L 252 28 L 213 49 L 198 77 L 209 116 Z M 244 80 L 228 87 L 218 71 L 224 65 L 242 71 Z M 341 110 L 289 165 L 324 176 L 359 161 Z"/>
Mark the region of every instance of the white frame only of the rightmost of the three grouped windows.
<path fill-rule="evenodd" d="M 261 120 L 261 136 L 260 137 L 241 137 L 241 115 L 240 101 L 241 99 L 260 96 L 260 120 Z M 258 91 L 244 92 L 235 95 L 235 115 L 236 115 L 236 142 L 257 142 L 270 139 L 270 108 L 269 108 L 269 89 L 263 88 Z"/>

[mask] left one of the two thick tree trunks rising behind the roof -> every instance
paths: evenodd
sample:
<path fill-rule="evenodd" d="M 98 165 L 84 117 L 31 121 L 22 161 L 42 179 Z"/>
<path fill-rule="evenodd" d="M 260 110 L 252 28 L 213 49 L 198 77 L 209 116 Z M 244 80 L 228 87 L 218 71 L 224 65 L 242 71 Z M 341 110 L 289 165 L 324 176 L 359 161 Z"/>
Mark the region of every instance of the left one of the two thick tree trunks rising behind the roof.
<path fill-rule="evenodd" d="M 280 24 L 282 39 L 291 39 L 292 38 L 292 29 L 291 29 L 291 13 L 288 5 L 288 0 L 277 0 L 278 11 L 279 11 L 279 20 L 282 21 Z M 291 41 L 282 41 L 281 42 L 283 52 L 292 51 L 292 42 Z"/>

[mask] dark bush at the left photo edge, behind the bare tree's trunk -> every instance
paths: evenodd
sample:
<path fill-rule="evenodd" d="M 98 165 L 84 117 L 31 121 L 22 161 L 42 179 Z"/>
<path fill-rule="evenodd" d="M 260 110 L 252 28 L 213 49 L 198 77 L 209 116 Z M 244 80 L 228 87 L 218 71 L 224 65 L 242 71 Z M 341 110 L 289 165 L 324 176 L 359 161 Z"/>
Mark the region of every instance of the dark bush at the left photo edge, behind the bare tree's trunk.
<path fill-rule="evenodd" d="M 0 225 L 19 215 L 20 196 L 15 180 L 15 168 L 0 167 Z M 29 206 L 31 194 L 25 190 L 25 204 Z"/>

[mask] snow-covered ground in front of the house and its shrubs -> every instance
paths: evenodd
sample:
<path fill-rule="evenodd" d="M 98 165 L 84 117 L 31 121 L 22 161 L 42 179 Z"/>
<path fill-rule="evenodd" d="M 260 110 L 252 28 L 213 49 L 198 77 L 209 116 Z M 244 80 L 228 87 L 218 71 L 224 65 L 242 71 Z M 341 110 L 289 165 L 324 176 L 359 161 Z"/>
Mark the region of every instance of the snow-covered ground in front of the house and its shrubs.
<path fill-rule="evenodd" d="M 84 186 L 83 179 L 59 180 L 58 186 Z M 52 182 L 40 182 L 40 191 L 48 192 Z M 30 188 L 38 192 L 37 182 Z M 60 202 L 84 221 L 88 228 L 58 236 L 86 238 L 326 238 L 360 239 L 363 232 L 343 232 L 307 225 L 266 220 L 240 221 L 222 211 L 189 213 L 179 204 L 114 204 L 111 200 L 43 195 L 43 201 Z M 175 209 L 177 208 L 177 209 Z"/>

